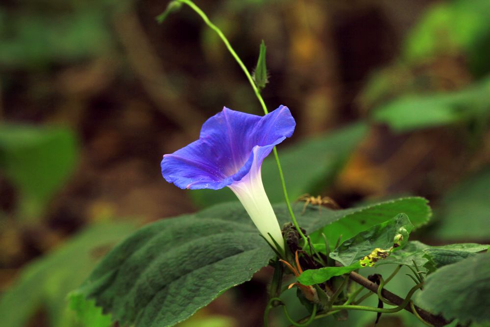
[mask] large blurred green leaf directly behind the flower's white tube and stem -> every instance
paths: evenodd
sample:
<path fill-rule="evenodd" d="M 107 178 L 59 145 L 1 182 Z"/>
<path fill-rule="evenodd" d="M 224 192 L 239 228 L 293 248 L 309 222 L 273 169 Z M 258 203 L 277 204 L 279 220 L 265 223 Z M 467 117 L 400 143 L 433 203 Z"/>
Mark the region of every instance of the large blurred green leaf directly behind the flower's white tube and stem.
<path fill-rule="evenodd" d="M 366 125 L 355 124 L 303 140 L 284 151 L 280 150 L 279 157 L 290 200 L 294 201 L 307 192 L 318 192 L 329 185 L 366 132 Z M 283 202 L 281 181 L 272 155 L 262 165 L 262 179 L 270 202 Z M 190 194 L 202 207 L 236 200 L 228 188 L 218 191 L 194 190 Z"/>

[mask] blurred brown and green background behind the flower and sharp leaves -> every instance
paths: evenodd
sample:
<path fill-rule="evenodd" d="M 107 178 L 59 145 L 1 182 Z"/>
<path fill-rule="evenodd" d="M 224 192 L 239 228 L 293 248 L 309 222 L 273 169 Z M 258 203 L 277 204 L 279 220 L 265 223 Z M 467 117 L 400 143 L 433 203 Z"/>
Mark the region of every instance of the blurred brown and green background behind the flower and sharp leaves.
<path fill-rule="evenodd" d="M 250 70 L 265 41 L 263 97 L 297 122 L 278 149 L 291 200 L 423 196 L 434 217 L 415 238 L 490 242 L 489 0 L 196 3 Z M 166 6 L 2 0 L 1 326 L 83 326 L 67 294 L 115 244 L 145 223 L 234 199 L 161 176 L 162 155 L 195 140 L 224 105 L 262 115 L 193 11 L 156 23 Z M 264 183 L 281 202 L 274 165 L 264 163 Z M 260 326 L 269 278 L 260 271 L 182 326 Z M 275 323 L 286 326 L 281 314 Z M 356 313 L 329 326 L 374 320 Z M 416 325 L 400 315 L 379 326 Z"/>

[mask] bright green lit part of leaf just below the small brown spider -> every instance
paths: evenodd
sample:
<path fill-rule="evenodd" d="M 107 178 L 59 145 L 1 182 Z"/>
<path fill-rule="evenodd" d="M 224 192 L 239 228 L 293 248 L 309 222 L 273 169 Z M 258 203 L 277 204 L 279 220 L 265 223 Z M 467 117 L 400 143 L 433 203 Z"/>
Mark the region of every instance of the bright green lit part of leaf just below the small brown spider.
<path fill-rule="evenodd" d="M 420 227 L 425 225 L 432 215 L 427 202 L 424 198 L 411 197 L 345 210 L 325 208 L 321 211 L 327 211 L 326 217 L 328 218 L 325 222 L 328 225 L 314 231 L 310 236 L 314 243 L 320 243 L 323 241 L 321 233 L 324 233 L 329 244 L 333 246 L 340 235 L 342 235 L 342 240 L 351 238 L 359 232 L 381 224 L 399 213 L 405 213 L 415 227 Z M 318 212 L 318 209 L 310 206 L 307 213 L 311 211 Z M 319 219 L 324 219 L 322 216 L 319 215 Z"/>

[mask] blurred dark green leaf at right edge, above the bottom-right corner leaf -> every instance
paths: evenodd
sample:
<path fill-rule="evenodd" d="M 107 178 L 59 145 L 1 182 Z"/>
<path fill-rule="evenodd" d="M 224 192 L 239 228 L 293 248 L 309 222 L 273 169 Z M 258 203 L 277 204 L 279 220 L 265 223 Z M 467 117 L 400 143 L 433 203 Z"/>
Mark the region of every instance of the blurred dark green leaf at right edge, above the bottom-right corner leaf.
<path fill-rule="evenodd" d="M 433 237 L 441 240 L 488 240 L 490 167 L 449 190 L 436 212 Z"/>

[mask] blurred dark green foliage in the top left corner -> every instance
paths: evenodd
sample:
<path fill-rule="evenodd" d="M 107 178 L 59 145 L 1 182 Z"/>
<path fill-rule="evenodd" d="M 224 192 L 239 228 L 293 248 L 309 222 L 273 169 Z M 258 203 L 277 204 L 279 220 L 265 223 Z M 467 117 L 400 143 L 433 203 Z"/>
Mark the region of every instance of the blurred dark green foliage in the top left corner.
<path fill-rule="evenodd" d="M 32 69 L 99 55 L 111 37 L 100 10 L 40 16 L 0 10 L 0 65 Z"/>

